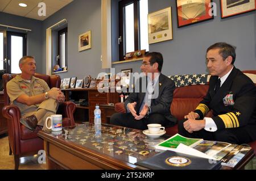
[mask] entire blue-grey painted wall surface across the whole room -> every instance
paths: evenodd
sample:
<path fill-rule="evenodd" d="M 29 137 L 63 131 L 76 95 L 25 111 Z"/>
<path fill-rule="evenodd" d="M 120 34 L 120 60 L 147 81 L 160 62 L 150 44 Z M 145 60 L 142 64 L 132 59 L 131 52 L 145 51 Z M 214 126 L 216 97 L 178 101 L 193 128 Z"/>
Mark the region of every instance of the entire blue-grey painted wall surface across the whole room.
<path fill-rule="evenodd" d="M 117 61 L 118 38 L 117 8 L 119 0 L 112 0 L 113 61 Z M 256 12 L 247 12 L 221 19 L 220 2 L 217 3 L 217 16 L 212 20 L 177 28 L 176 3 L 171 0 L 148 0 L 148 12 L 172 7 L 173 40 L 151 44 L 150 51 L 163 54 L 163 73 L 191 74 L 207 73 L 205 50 L 217 41 L 226 41 L 237 47 L 235 65 L 241 70 L 256 68 Z M 34 54 L 38 71 L 46 72 L 46 29 L 66 18 L 68 20 L 68 72 L 61 77 L 83 78 L 85 75 L 96 77 L 101 71 L 101 1 L 76 0 L 40 22 L 0 12 L 0 24 L 31 28 L 28 52 Z M 116 23 L 116 25 L 115 25 Z M 78 36 L 92 30 L 92 49 L 78 51 Z M 114 65 L 116 72 L 133 68 L 140 71 L 141 62 Z"/>

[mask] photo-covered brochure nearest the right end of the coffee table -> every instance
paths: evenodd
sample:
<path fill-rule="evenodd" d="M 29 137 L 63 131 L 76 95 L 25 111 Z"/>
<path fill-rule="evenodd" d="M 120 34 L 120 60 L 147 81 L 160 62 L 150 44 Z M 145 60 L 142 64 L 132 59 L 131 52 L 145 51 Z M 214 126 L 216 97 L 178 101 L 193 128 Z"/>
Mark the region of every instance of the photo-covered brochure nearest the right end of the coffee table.
<path fill-rule="evenodd" d="M 221 159 L 221 165 L 235 167 L 238 162 L 250 151 L 250 147 L 237 145 L 226 157 Z"/>

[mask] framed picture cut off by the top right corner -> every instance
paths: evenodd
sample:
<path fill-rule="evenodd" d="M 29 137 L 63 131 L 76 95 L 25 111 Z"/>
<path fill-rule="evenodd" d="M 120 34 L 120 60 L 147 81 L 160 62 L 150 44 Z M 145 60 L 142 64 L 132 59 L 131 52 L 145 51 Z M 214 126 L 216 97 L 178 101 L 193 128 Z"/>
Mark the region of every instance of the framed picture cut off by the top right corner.
<path fill-rule="evenodd" d="M 221 0 L 221 18 L 254 11 L 255 0 Z"/>

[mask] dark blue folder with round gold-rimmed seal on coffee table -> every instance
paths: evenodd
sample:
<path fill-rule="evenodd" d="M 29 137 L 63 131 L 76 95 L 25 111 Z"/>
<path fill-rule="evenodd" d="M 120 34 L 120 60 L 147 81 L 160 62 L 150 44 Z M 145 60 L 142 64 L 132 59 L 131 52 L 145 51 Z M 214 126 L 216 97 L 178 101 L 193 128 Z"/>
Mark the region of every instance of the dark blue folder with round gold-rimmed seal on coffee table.
<path fill-rule="evenodd" d="M 166 150 L 135 165 L 157 170 L 216 170 L 220 169 L 221 161 L 212 162 L 206 158 Z"/>

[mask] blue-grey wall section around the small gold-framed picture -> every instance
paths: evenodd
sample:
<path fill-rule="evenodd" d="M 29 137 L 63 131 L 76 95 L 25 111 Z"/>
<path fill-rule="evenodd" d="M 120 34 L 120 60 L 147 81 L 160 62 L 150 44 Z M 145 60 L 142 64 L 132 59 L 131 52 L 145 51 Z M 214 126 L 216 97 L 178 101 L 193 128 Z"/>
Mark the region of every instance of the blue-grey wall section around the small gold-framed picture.
<path fill-rule="evenodd" d="M 68 20 L 68 72 L 63 77 L 97 77 L 101 71 L 101 1 L 76 0 L 43 21 L 43 60 L 46 59 L 46 29 L 62 19 Z M 79 52 L 78 37 L 92 31 L 92 49 Z M 43 71 L 46 71 L 45 64 Z"/>

